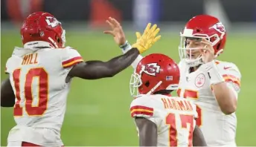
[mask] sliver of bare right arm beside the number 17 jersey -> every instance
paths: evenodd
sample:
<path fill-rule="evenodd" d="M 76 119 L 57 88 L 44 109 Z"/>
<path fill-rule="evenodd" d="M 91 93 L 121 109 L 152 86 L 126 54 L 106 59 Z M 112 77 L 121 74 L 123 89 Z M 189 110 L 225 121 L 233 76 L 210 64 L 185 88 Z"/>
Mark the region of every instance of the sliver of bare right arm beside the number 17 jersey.
<path fill-rule="evenodd" d="M 193 146 L 207 146 L 201 129 L 196 125 L 193 130 Z"/>

